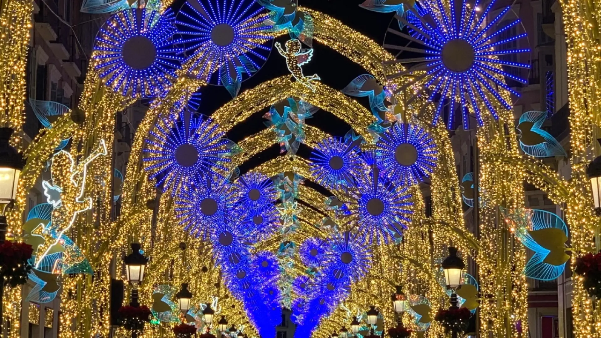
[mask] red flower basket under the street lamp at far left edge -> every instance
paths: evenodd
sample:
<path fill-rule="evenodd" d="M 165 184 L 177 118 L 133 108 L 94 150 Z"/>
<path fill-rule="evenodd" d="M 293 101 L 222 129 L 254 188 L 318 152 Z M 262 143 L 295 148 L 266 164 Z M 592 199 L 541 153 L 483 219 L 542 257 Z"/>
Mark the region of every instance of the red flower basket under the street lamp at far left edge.
<path fill-rule="evenodd" d="M 0 278 L 4 278 L 5 285 L 15 287 L 25 284 L 31 271 L 28 260 L 32 253 L 31 245 L 23 242 L 5 241 L 0 244 Z"/>

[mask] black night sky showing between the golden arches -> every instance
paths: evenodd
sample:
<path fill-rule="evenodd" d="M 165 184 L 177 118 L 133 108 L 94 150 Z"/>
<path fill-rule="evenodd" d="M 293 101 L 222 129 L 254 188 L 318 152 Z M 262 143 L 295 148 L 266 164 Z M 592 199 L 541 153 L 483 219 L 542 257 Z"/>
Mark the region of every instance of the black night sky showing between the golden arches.
<path fill-rule="evenodd" d="M 392 13 L 374 13 L 365 10 L 359 7 L 361 2 L 363 2 L 363 0 L 299 0 L 299 5 L 335 17 L 344 22 L 347 26 L 362 32 L 381 45 L 386 28 L 392 19 Z M 172 5 L 173 10 L 177 12 L 184 3 L 185 0 L 175 0 Z M 288 35 L 276 39 L 276 41 L 280 41 L 282 45 L 286 40 L 288 40 Z M 317 43 L 315 40 L 313 42 L 313 48 L 313 60 L 303 67 L 304 72 L 305 74 L 317 73 L 322 78 L 322 82 L 332 88 L 340 90 L 357 76 L 367 73 L 361 66 L 358 66 L 334 50 L 324 45 L 320 45 L 320 43 Z M 285 66 L 284 58 L 282 58 L 274 49 L 263 68 L 242 83 L 240 93 L 249 88 L 253 88 L 264 81 L 284 75 L 290 75 L 290 73 Z M 205 115 L 212 114 L 212 112 L 224 105 L 228 100 L 231 100 L 230 94 L 228 94 L 224 87 L 209 85 L 208 87 L 204 87 L 201 91 L 202 102 L 200 112 Z M 369 109 L 367 98 L 356 99 Z M 263 118 L 263 115 L 267 109 L 268 108 L 255 112 L 255 114 L 244 123 L 240 123 L 228 132 L 227 137 L 233 141 L 240 141 L 248 135 L 255 134 L 261 129 L 266 128 L 264 125 L 264 121 L 266 120 Z M 350 126 L 344 121 L 341 121 L 331 113 L 323 110 L 318 111 L 313 118 L 308 119 L 307 124 L 317 126 L 323 131 L 337 136 L 343 136 L 350 130 Z M 298 155 L 308 158 L 309 154 L 310 149 L 306 146 L 301 146 Z M 274 144 L 266 151 L 251 158 L 247 163 L 240 167 L 240 170 L 245 172 L 261 162 L 267 161 L 278 155 L 279 146 Z"/>

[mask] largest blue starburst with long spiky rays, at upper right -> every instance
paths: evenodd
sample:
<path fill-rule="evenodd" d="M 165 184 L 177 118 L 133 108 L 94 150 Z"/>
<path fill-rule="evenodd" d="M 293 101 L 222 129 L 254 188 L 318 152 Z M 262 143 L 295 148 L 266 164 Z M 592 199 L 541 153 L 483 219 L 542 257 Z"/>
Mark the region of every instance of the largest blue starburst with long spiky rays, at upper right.
<path fill-rule="evenodd" d="M 460 3 L 456 4 L 457 1 Z M 517 67 L 528 69 L 529 64 L 505 61 L 510 54 L 530 52 L 530 49 L 507 49 L 505 44 L 526 37 L 526 34 L 508 36 L 508 29 L 517 25 L 519 19 L 510 21 L 507 25 L 498 28 L 499 21 L 510 10 L 503 8 L 498 15 L 491 20 L 486 20 L 490 10 L 495 7 L 495 1 L 491 1 L 486 9 L 479 12 L 474 8 L 480 8 L 481 1 L 478 0 L 474 6 L 469 6 L 466 0 L 451 0 L 449 5 L 442 1 L 430 1 L 421 3 L 423 14 L 411 10 L 411 15 L 416 17 L 416 25 L 412 25 L 402 16 L 395 18 L 407 26 L 406 30 L 397 31 L 389 28 L 387 39 L 404 38 L 406 42 L 388 40 L 385 48 L 409 52 L 402 54 L 398 60 L 386 61 L 385 64 L 403 63 L 406 70 L 398 72 L 387 72 L 387 79 L 400 76 L 412 76 L 407 84 L 394 90 L 398 93 L 407 88 L 422 87 L 413 91 L 415 96 L 426 95 L 436 103 L 433 124 L 438 124 L 444 118 L 444 107 L 450 103 L 446 124 L 452 128 L 454 114 L 460 111 L 463 117 L 463 126 L 469 128 L 468 114 L 474 113 L 478 124 L 484 124 L 483 111 L 480 107 L 486 107 L 487 111 L 496 119 L 498 112 L 496 106 L 511 109 L 508 102 L 508 94 L 519 97 L 519 93 L 511 89 L 504 78 L 526 83 L 525 79 L 505 72 L 502 67 Z M 427 17 L 427 19 L 426 19 Z M 484 22 L 486 20 L 486 23 Z M 414 21 L 415 22 L 415 21 Z M 407 31 L 405 33 L 404 31 Z M 503 37 L 503 38 L 501 38 Z M 423 46 L 419 48 L 418 45 Z M 412 55 L 413 53 L 413 55 Z M 419 54 L 419 57 L 415 57 Z M 407 56 L 405 56 L 407 55 Z M 424 90 L 425 88 L 425 90 Z"/>

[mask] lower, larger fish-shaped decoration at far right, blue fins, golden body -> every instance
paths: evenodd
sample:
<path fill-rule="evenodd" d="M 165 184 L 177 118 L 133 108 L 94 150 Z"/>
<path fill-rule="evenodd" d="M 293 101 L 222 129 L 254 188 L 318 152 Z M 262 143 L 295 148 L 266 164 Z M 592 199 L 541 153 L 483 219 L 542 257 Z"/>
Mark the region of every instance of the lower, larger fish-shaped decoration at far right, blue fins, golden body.
<path fill-rule="evenodd" d="M 537 280 L 555 280 L 559 277 L 570 255 L 566 253 L 569 232 L 566 223 L 552 212 L 538 209 L 501 210 L 510 230 L 522 244 L 534 251 L 526 263 L 524 274 Z"/>

